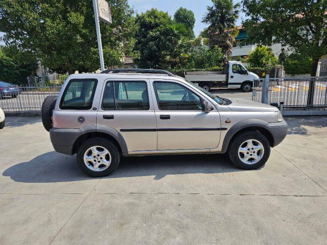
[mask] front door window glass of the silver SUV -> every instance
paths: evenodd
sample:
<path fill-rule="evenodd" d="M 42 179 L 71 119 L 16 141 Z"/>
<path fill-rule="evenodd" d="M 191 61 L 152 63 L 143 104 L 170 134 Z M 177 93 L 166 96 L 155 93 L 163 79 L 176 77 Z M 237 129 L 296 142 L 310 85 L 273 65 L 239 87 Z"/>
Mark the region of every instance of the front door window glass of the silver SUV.
<path fill-rule="evenodd" d="M 167 82 L 154 82 L 160 110 L 201 110 L 200 97 L 189 89 Z"/>

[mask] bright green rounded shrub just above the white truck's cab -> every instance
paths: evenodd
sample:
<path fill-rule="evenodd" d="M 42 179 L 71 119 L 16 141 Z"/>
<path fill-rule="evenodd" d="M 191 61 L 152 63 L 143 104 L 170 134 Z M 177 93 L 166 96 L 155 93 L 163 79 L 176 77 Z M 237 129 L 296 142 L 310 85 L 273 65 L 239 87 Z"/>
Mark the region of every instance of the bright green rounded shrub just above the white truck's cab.
<path fill-rule="evenodd" d="M 254 51 L 250 52 L 245 62 L 247 62 L 250 67 L 260 67 L 267 72 L 278 64 L 278 59 L 275 57 L 270 47 L 257 46 Z"/>

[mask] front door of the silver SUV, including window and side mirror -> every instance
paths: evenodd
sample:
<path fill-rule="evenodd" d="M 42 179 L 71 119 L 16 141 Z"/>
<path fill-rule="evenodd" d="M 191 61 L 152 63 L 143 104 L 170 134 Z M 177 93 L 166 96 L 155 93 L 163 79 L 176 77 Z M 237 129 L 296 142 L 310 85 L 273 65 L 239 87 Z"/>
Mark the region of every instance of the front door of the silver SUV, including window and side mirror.
<path fill-rule="evenodd" d="M 211 112 L 202 111 L 203 98 L 178 81 L 151 83 L 159 151 L 217 148 L 221 124 L 215 107 Z"/>

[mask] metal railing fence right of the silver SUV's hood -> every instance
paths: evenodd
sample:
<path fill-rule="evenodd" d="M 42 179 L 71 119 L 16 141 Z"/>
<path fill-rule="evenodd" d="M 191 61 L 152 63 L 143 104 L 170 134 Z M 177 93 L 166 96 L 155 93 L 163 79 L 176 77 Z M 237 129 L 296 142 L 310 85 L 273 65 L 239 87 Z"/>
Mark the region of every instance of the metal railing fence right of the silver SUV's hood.
<path fill-rule="evenodd" d="M 253 81 L 253 101 L 273 103 L 279 108 L 283 105 L 283 109 L 288 111 L 327 111 L 327 77 L 268 80 L 268 92 L 266 93 L 265 79 Z M 310 100 L 309 97 L 312 99 Z"/>

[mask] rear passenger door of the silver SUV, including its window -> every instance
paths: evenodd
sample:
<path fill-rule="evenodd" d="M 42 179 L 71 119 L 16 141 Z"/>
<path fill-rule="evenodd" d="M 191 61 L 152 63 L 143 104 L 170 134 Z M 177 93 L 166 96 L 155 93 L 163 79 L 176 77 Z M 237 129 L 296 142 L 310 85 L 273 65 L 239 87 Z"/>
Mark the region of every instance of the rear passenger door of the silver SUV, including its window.
<path fill-rule="evenodd" d="M 128 152 L 157 150 L 156 119 L 149 80 L 106 80 L 97 127 L 109 126 L 124 138 Z"/>

